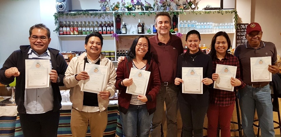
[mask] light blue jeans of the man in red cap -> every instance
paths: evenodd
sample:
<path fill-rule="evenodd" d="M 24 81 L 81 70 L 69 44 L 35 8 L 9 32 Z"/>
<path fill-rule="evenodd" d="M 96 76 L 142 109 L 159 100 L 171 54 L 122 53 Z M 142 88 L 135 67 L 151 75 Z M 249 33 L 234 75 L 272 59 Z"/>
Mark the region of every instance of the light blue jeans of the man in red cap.
<path fill-rule="evenodd" d="M 264 87 L 246 85 L 244 89 L 239 89 L 238 98 L 244 137 L 255 137 L 253 131 L 255 109 L 257 110 L 258 121 L 261 127 L 261 136 L 275 137 L 273 129 L 273 106 L 270 94 L 269 84 Z"/>

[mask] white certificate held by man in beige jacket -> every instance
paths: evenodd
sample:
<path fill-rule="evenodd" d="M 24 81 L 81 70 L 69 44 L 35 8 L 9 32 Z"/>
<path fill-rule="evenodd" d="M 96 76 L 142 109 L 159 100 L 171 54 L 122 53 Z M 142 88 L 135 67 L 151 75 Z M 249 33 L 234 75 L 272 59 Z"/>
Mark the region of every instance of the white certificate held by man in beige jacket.
<path fill-rule="evenodd" d="M 108 67 L 86 63 L 84 71 L 88 73 L 90 78 L 82 80 L 81 91 L 92 93 L 103 91 L 104 86 L 106 85 L 105 76 L 107 75 Z"/>

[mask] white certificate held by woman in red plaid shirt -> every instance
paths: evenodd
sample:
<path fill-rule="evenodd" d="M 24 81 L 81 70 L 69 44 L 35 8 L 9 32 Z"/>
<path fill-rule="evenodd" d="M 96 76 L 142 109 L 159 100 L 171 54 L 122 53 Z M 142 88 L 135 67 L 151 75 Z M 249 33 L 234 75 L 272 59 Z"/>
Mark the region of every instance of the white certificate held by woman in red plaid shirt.
<path fill-rule="evenodd" d="M 237 66 L 217 64 L 216 73 L 219 78 L 214 82 L 215 89 L 234 91 L 234 86 L 230 84 L 231 77 L 236 77 Z"/>

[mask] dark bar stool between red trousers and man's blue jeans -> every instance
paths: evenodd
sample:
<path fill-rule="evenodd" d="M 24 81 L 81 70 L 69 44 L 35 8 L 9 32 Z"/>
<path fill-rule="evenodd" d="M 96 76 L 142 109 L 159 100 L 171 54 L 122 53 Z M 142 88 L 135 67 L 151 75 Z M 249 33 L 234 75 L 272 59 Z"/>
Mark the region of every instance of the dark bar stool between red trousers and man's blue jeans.
<path fill-rule="evenodd" d="M 241 120 L 240 120 L 239 103 L 238 103 L 238 96 L 237 96 L 237 94 L 236 94 L 235 104 L 236 104 L 236 112 L 237 112 L 237 122 L 230 121 L 230 123 L 237 124 L 238 125 L 238 129 L 230 129 L 230 132 L 239 131 L 239 137 L 242 137 L 242 124 L 241 124 Z M 218 123 L 218 126 L 217 126 L 217 137 L 219 137 L 219 136 L 220 136 L 220 124 Z"/>

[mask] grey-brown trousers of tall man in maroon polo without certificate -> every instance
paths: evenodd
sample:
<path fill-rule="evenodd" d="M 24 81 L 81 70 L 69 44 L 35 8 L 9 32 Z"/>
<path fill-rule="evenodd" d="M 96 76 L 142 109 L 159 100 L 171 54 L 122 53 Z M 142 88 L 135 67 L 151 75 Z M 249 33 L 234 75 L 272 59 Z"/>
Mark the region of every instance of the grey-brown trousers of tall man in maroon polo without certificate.
<path fill-rule="evenodd" d="M 173 84 L 160 87 L 159 93 L 156 95 L 156 110 L 152 118 L 150 129 L 151 137 L 161 136 L 164 102 L 166 104 L 167 137 L 177 137 L 178 94 L 179 89 Z"/>

